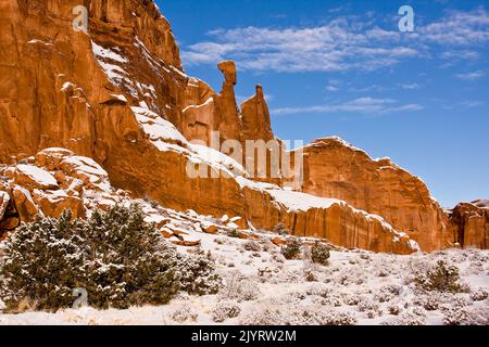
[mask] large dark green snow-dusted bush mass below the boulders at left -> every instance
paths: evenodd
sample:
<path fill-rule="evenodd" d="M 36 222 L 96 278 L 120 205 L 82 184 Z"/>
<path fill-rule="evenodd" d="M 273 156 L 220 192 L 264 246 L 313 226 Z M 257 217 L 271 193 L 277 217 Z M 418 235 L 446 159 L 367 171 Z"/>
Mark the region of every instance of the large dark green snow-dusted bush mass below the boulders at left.
<path fill-rule="evenodd" d="M 97 308 L 166 304 L 180 288 L 204 292 L 202 282 L 214 279 L 212 264 L 177 255 L 143 217 L 137 205 L 114 206 L 87 221 L 72 220 L 66 211 L 23 224 L 2 257 L 0 295 L 8 309 L 23 300 L 37 309 L 70 307 L 77 287 Z M 181 268 L 190 268 L 185 277 L 177 273 Z"/>

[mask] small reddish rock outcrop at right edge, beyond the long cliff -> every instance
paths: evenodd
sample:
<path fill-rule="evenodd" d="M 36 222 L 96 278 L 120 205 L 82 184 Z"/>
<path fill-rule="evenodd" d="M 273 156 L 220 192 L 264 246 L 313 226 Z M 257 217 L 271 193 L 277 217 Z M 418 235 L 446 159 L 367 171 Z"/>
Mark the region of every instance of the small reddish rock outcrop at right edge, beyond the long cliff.
<path fill-rule="evenodd" d="M 462 247 L 488 249 L 489 204 L 488 201 L 461 203 L 450 213 L 447 242 Z"/>

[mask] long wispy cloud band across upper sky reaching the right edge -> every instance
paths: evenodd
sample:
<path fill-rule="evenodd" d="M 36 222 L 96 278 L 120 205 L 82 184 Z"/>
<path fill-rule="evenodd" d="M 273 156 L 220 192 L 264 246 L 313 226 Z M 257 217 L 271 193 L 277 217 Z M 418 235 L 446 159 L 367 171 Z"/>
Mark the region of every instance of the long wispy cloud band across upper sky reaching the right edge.
<path fill-rule="evenodd" d="M 189 65 L 231 59 L 241 69 L 288 73 L 374 70 L 431 55 L 447 64 L 478 56 L 477 48 L 489 41 L 489 15 L 482 8 L 452 11 L 416 30 L 402 35 L 356 16 L 315 27 L 216 29 L 209 40 L 184 49 L 183 59 Z M 434 47 L 443 53 L 431 52 Z"/>

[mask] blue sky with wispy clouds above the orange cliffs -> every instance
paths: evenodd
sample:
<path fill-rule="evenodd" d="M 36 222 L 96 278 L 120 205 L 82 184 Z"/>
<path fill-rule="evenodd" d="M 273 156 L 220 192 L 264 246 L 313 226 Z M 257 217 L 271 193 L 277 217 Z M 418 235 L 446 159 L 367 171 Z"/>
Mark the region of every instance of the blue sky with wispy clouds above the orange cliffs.
<path fill-rule="evenodd" d="M 489 197 L 488 1 L 156 1 L 186 72 L 238 65 L 284 140 L 339 136 L 419 176 L 444 207 Z M 409 4 L 414 33 L 401 33 Z"/>

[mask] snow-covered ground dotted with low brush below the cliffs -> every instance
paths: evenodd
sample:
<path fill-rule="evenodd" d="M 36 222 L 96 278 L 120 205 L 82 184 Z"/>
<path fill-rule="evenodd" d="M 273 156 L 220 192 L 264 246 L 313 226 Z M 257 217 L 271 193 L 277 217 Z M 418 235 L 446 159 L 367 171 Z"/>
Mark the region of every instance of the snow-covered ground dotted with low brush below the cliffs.
<path fill-rule="evenodd" d="M 212 253 L 224 279 L 217 295 L 179 294 L 165 306 L 127 310 L 0 314 L 0 324 L 489 324 L 488 250 L 411 256 L 331 250 L 329 266 L 318 266 L 286 260 L 271 242 L 273 234 L 258 241 L 192 234 Z M 459 267 L 467 293 L 416 292 L 416 271 L 438 260 Z"/>

